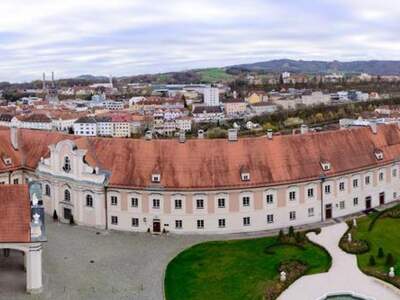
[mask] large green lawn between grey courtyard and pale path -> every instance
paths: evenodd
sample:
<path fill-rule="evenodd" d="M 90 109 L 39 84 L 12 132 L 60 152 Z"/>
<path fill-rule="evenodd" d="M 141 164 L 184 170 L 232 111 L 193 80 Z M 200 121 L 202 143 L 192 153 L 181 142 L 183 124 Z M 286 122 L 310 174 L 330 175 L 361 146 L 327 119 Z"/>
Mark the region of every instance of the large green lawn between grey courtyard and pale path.
<path fill-rule="evenodd" d="M 275 254 L 266 254 L 265 247 L 276 241 L 207 242 L 183 251 L 167 267 L 167 300 L 262 299 L 268 284 L 279 277 L 279 263 L 290 259 L 307 263 L 309 274 L 329 269 L 329 254 L 311 243 L 304 249 L 278 246 L 273 249 Z"/>

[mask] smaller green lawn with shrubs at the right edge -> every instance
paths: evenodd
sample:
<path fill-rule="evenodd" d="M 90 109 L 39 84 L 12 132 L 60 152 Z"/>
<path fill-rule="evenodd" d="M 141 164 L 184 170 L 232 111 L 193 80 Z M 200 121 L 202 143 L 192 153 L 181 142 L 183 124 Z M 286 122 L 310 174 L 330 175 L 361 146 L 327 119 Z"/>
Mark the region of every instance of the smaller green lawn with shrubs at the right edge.
<path fill-rule="evenodd" d="M 368 231 L 368 225 L 373 219 L 373 216 L 361 218 L 357 222 L 355 238 L 367 240 L 370 244 L 370 251 L 364 254 L 357 255 L 358 265 L 361 269 L 369 269 L 369 257 L 375 256 L 375 269 L 380 272 L 387 273 L 389 267 L 385 265 L 386 254 L 392 253 L 396 259 L 395 270 L 400 271 L 400 219 L 399 218 L 379 218 L 372 231 Z M 378 249 L 383 248 L 385 253 L 384 258 L 378 258 Z"/>

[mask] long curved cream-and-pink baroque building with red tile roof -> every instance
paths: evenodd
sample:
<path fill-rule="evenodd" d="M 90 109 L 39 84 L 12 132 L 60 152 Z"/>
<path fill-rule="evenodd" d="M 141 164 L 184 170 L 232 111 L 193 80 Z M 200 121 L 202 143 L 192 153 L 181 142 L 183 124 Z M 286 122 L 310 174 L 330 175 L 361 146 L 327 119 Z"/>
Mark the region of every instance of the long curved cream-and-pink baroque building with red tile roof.
<path fill-rule="evenodd" d="M 38 180 L 48 214 L 125 231 L 232 233 L 394 201 L 397 124 L 259 138 L 145 140 L 0 129 L 0 183 Z"/>

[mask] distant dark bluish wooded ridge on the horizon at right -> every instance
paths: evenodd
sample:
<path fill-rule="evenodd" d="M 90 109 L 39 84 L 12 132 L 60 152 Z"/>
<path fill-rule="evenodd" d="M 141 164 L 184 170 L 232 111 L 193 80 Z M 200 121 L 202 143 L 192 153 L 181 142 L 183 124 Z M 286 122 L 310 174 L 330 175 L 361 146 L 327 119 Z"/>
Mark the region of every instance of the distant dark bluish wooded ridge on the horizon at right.
<path fill-rule="evenodd" d="M 400 61 L 397 60 L 368 60 L 368 61 L 317 61 L 278 59 L 251 64 L 233 65 L 226 68 L 229 72 L 259 71 L 271 73 L 368 73 L 371 75 L 400 75 Z"/>

